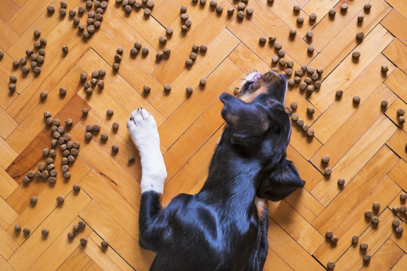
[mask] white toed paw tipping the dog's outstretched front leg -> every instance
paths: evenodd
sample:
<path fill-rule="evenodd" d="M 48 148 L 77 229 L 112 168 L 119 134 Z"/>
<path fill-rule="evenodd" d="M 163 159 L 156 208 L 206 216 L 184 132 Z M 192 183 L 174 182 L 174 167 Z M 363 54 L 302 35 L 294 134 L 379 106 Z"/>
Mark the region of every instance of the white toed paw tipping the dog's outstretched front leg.
<path fill-rule="evenodd" d="M 157 124 L 146 109 L 140 107 L 131 113 L 130 120 L 127 122 L 127 129 L 140 155 L 143 151 L 160 148 Z"/>

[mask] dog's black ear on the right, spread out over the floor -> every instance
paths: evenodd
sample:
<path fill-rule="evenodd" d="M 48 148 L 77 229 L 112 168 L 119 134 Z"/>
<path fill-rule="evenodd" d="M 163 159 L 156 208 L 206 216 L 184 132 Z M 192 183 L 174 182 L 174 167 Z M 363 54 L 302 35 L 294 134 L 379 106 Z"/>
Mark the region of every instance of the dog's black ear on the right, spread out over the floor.
<path fill-rule="evenodd" d="M 257 196 L 271 201 L 280 201 L 297 188 L 304 187 L 305 181 L 300 178 L 293 163 L 284 158 L 264 176 L 257 189 Z"/>

